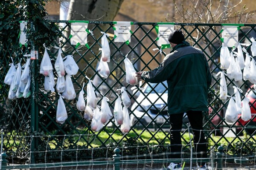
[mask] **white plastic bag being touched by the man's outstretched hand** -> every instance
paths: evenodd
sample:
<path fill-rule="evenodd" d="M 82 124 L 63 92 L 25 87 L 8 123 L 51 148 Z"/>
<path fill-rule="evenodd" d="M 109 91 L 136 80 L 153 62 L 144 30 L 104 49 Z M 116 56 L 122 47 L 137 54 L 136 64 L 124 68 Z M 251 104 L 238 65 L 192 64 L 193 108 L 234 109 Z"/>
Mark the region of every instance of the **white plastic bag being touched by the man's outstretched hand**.
<path fill-rule="evenodd" d="M 125 56 L 125 74 L 126 74 L 126 82 L 130 85 L 137 85 L 138 79 L 136 77 L 136 71 L 131 61 Z"/>

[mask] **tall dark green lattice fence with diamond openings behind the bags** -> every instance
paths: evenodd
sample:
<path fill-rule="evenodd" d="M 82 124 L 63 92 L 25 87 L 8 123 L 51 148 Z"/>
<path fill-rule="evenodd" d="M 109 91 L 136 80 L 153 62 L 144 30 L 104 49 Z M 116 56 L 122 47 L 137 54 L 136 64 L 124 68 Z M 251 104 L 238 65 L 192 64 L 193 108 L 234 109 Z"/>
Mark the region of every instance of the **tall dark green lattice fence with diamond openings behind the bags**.
<path fill-rule="evenodd" d="M 89 21 L 88 29 L 93 34 L 88 34 L 88 44 L 71 45 L 69 39 L 69 31 L 71 23 L 69 21 L 53 21 L 51 23 L 65 23 L 65 26 L 60 28 L 56 41 L 52 42 L 48 48 L 49 56 L 52 65 L 54 65 L 58 51 L 53 48 L 58 46 L 62 50 L 62 57 L 73 55 L 76 63 L 79 65 L 79 71 L 71 79 L 76 90 L 76 99 L 65 100 L 68 118 L 64 124 L 59 124 L 55 121 L 56 109 L 58 102 L 58 93 L 44 90 L 44 76 L 39 74 L 39 65 L 43 57 L 44 48 L 39 49 L 39 59 L 32 60 L 30 72 L 32 76 L 31 91 L 32 95 L 29 99 L 9 100 L 9 85 L 3 83 L 9 63 L 15 64 L 21 61 L 25 63 L 24 54 L 30 54 L 30 46 L 17 44 L 0 44 L 0 121 L 1 121 L 1 146 L 3 152 L 6 152 L 9 160 L 20 161 L 21 159 L 29 160 L 31 163 L 50 162 L 54 159 L 61 161 L 68 159 L 91 159 L 93 152 L 94 157 L 100 157 L 109 150 L 113 151 L 116 146 L 123 146 L 122 152 L 124 155 L 134 154 L 131 147 L 140 146 L 135 149 L 137 155 L 148 153 L 148 146 L 158 148 L 156 153 L 168 153 L 169 148 L 169 121 L 166 115 L 166 101 L 164 94 L 167 92 L 166 85 L 160 83 L 163 91 L 157 93 L 156 87 L 152 84 L 143 82 L 142 86 L 148 86 L 148 91 L 144 91 L 137 86 L 137 89 L 131 90 L 133 86 L 128 85 L 125 81 L 125 66 L 124 59 L 128 58 L 134 65 L 137 71 L 148 71 L 157 67 L 163 60 L 170 49 L 163 49 L 164 53 L 153 51 L 154 48 L 159 48 L 157 45 L 157 34 L 155 26 L 158 23 L 137 23 L 132 25 L 131 42 L 114 42 L 113 37 L 108 37 L 109 46 L 111 49 L 111 62 L 109 68 L 110 76 L 105 79 L 99 75 L 97 65 L 101 58 L 102 34 L 97 34 L 103 31 L 108 34 L 113 34 L 114 22 L 97 22 Z M 225 122 L 224 114 L 227 108 L 227 101 L 219 99 L 220 78 L 216 76 L 220 68 L 220 49 L 221 49 L 221 30 L 222 24 L 200 24 L 200 23 L 174 23 L 175 28 L 180 28 L 185 34 L 185 40 L 192 46 L 200 48 L 208 59 L 208 63 L 212 72 L 212 85 L 209 90 L 209 109 L 204 113 L 204 128 L 205 136 L 208 142 L 208 155 L 211 151 L 216 151 L 217 147 L 223 142 L 227 143 L 225 152 L 230 155 L 245 155 L 250 156 L 255 154 L 253 146 L 255 146 L 255 122 L 253 119 L 245 124 L 241 118 L 229 124 Z M 252 24 L 237 25 L 239 30 L 239 42 L 250 42 L 251 37 L 255 37 L 256 30 Z M 67 35 L 66 35 L 67 34 Z M 97 37 L 97 35 L 100 35 Z M 246 46 L 247 51 L 250 51 L 250 46 Z M 160 48 L 159 48 L 160 49 Z M 224 71 L 224 70 L 223 70 Z M 57 80 L 56 72 L 55 83 Z M 131 99 L 132 105 L 128 108 L 130 118 L 133 120 L 131 130 L 127 134 L 123 134 L 120 126 L 116 125 L 112 117 L 109 122 L 104 125 L 102 130 L 95 133 L 90 129 L 90 121 L 84 119 L 84 112 L 76 109 L 79 92 L 84 86 L 84 96 L 87 96 L 86 86 L 88 80 L 85 77 L 90 77 L 93 80 L 93 87 L 98 99 L 98 105 L 102 102 L 102 95 L 110 100 L 108 104 L 113 111 L 114 103 L 117 95 L 120 92 L 117 89 L 125 87 Z M 235 82 L 233 79 L 227 79 L 228 94 L 234 96 L 233 86 L 243 90 L 241 98 L 244 98 L 246 92 L 250 95 L 256 95 L 253 84 L 247 81 Z M 150 95 L 156 94 L 156 100 L 151 100 Z M 142 100 L 138 96 L 143 96 Z M 159 101 L 163 103 L 158 104 Z M 147 102 L 147 103 L 146 103 Z M 250 103 L 250 107 L 254 107 L 255 101 Z M 140 115 L 138 114 L 140 113 Z M 254 115 L 254 114 L 253 114 Z M 146 120 L 147 118 L 147 120 Z M 148 120 L 150 120 L 148 122 Z M 189 123 L 186 120 L 186 115 L 183 118 L 183 131 L 181 133 L 183 141 L 183 150 L 190 155 L 191 137 L 188 137 L 190 130 Z M 255 119 L 256 120 L 256 119 Z M 144 135 L 149 136 L 145 138 Z M 232 137 L 229 137 L 232 136 Z M 132 146 L 131 143 L 135 144 Z M 101 148 L 104 148 L 101 150 Z M 130 149 L 129 149 L 130 148 Z M 239 148 L 239 149 L 238 149 Z M 161 150 L 162 151 L 159 151 Z M 101 151 L 99 151 L 101 150 Z M 157 150 L 157 149 L 156 149 Z M 167 150 L 167 151 L 163 151 Z M 65 152 L 67 151 L 67 152 Z M 81 151 L 81 152 L 80 152 Z M 97 154 L 99 155 L 97 155 Z M 59 156 L 59 157 L 58 157 Z M 137 158 L 138 159 L 138 158 Z"/>

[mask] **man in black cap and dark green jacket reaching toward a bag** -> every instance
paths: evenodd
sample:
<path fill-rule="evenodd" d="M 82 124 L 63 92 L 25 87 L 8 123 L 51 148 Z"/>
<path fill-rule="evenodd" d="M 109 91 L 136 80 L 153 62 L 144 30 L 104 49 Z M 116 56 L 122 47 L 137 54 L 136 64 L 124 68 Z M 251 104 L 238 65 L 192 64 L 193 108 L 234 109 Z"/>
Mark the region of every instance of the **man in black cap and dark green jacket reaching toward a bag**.
<path fill-rule="evenodd" d="M 172 47 L 171 53 L 166 55 L 160 66 L 154 70 L 137 72 L 137 78 L 152 83 L 167 80 L 171 158 L 181 158 L 180 131 L 185 112 L 192 127 L 196 156 L 207 158 L 202 112 L 208 111 L 207 91 L 212 80 L 209 65 L 204 53 L 185 41 L 181 30 L 173 31 L 168 40 Z M 171 163 L 167 169 L 181 170 L 181 162 Z M 198 170 L 207 170 L 204 161 L 198 161 Z"/>

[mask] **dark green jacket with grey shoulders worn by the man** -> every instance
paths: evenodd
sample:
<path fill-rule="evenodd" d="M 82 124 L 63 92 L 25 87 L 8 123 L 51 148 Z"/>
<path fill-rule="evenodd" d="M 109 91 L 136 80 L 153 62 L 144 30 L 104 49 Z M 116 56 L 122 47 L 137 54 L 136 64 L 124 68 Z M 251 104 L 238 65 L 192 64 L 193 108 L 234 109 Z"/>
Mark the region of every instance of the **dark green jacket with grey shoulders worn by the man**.
<path fill-rule="evenodd" d="M 188 42 L 176 45 L 159 67 L 143 72 L 142 79 L 152 83 L 167 80 L 169 114 L 208 111 L 212 75 L 203 52 Z"/>

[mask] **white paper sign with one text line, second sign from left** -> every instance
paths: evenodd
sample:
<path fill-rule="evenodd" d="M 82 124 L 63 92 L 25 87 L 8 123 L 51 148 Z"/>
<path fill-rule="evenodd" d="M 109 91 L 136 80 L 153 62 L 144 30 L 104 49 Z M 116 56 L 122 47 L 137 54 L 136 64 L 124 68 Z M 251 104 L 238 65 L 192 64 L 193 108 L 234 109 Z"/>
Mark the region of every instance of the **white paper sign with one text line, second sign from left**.
<path fill-rule="evenodd" d="M 87 44 L 87 29 L 88 23 L 71 23 L 71 44 L 77 45 L 80 43 L 81 45 Z"/>

